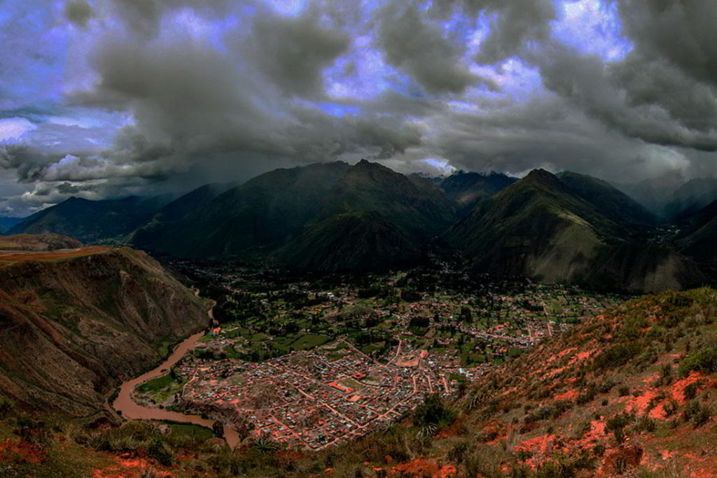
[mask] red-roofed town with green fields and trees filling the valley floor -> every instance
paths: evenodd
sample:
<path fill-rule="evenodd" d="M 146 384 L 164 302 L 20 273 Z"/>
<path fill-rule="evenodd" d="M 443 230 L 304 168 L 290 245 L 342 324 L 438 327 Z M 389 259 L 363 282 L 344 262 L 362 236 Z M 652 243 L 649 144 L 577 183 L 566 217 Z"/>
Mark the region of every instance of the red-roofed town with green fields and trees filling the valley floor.
<path fill-rule="evenodd" d="M 437 262 L 384 274 L 295 275 L 173 259 L 215 323 L 135 400 L 320 450 L 392 423 L 625 296 L 497 279 Z"/>

